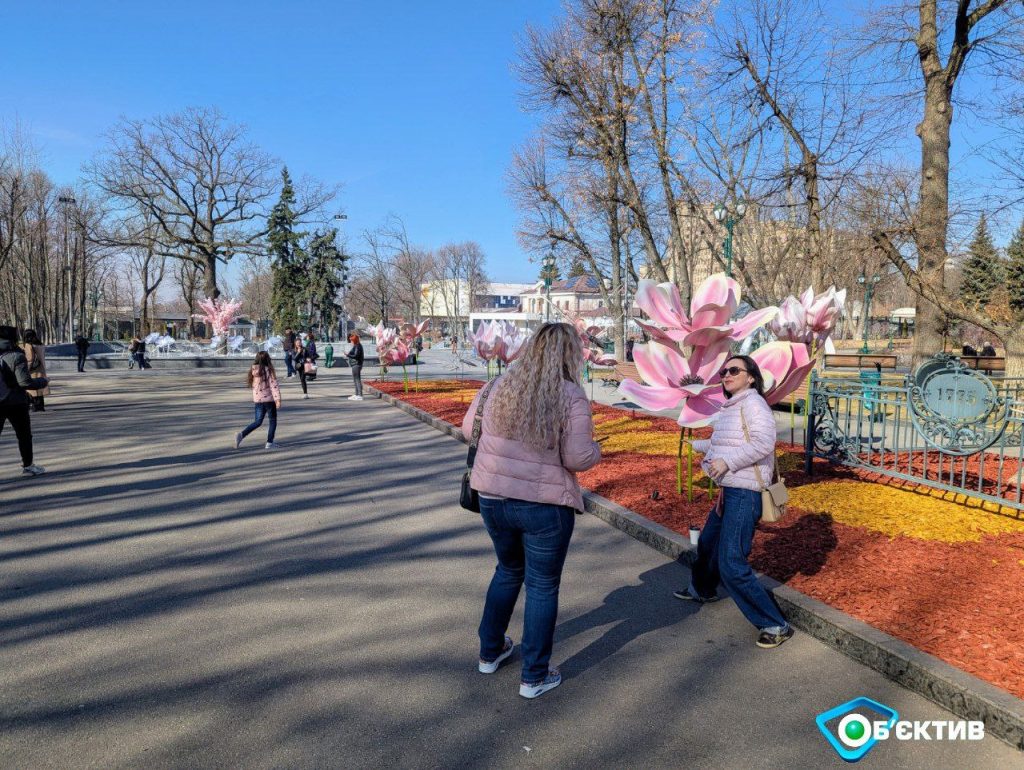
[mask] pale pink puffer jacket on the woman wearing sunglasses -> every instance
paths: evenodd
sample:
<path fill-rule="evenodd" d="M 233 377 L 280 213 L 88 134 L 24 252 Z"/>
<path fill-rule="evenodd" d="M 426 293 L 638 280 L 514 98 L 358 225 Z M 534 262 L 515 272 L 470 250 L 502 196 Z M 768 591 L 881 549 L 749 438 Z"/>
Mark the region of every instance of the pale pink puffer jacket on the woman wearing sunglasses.
<path fill-rule="evenodd" d="M 750 441 L 743 435 L 740 414 L 746 420 Z M 764 484 L 758 483 L 754 472 L 756 464 L 764 483 L 770 484 L 774 472 L 776 428 L 768 402 L 756 390 L 744 390 L 722 405 L 712 425 L 711 438 L 693 442 L 696 452 L 705 453 L 700 467 L 707 471 L 712 460 L 724 460 L 729 470 L 720 485 L 759 490 L 764 488 Z"/>

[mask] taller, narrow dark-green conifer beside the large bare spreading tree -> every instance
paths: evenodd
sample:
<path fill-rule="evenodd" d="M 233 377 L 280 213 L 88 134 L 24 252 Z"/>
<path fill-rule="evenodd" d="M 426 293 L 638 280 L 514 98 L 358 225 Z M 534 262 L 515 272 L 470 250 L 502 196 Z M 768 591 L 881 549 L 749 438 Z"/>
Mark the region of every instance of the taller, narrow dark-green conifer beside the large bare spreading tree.
<path fill-rule="evenodd" d="M 267 217 L 267 253 L 272 260 L 273 283 L 270 312 L 278 333 L 299 328 L 300 310 L 306 304 L 306 254 L 302 248 L 304 232 L 295 231 L 295 189 L 288 169 L 281 171 L 281 198 Z"/>

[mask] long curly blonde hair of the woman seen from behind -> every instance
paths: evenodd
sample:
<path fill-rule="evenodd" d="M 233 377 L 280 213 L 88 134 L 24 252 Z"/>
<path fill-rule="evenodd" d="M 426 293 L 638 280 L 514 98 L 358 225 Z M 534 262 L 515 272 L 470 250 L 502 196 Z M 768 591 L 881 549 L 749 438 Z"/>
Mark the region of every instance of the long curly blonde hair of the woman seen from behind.
<path fill-rule="evenodd" d="M 494 431 L 541 448 L 557 445 L 568 419 L 565 380 L 580 384 L 583 347 L 568 324 L 545 324 L 530 337 L 492 396 Z"/>

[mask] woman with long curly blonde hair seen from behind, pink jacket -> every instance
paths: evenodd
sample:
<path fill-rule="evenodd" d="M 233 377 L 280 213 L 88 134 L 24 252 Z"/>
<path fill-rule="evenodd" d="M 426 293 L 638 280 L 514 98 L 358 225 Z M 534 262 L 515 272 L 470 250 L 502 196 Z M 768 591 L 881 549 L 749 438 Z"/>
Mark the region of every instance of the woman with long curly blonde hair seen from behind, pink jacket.
<path fill-rule="evenodd" d="M 562 681 L 549 662 L 562 566 L 574 513 L 583 510 L 575 474 L 601 459 L 580 385 L 583 360 L 573 327 L 542 326 L 516 365 L 477 393 L 462 422 L 463 433 L 479 439 L 471 485 L 498 557 L 480 621 L 478 670 L 493 674 L 512 654 L 505 632 L 525 583 L 519 694 L 526 698 Z"/>

